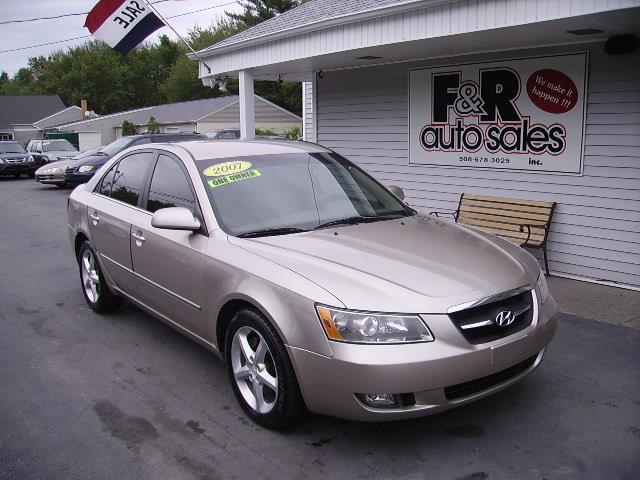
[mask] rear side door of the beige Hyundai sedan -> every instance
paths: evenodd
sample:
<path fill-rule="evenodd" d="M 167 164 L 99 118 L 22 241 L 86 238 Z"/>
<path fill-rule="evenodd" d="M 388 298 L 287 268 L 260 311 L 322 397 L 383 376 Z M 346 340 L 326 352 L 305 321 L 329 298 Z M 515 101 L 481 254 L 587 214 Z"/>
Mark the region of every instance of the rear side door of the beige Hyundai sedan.
<path fill-rule="evenodd" d="M 125 293 L 136 296 L 131 265 L 131 224 L 151 217 L 142 210 L 142 192 L 154 160 L 152 151 L 123 157 L 104 175 L 87 205 L 89 228 L 106 274 Z"/>

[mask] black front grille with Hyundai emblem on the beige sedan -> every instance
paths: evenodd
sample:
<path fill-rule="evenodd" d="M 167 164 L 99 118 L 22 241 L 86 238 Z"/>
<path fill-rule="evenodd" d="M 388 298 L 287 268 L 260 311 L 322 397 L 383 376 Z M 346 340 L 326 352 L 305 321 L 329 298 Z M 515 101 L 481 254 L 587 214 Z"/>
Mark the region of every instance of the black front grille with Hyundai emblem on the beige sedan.
<path fill-rule="evenodd" d="M 499 326 L 495 319 L 501 312 L 513 312 L 515 320 Z M 469 343 L 492 342 L 527 328 L 533 321 L 531 290 L 494 302 L 449 313 L 449 318 Z"/>

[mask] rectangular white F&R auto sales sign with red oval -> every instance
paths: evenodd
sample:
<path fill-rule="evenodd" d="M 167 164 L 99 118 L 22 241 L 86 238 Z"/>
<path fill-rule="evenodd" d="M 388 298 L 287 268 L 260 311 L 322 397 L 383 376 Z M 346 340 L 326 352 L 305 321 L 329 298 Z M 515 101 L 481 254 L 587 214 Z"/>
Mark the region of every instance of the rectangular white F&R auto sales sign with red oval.
<path fill-rule="evenodd" d="M 587 54 L 409 72 L 410 163 L 580 173 Z"/>

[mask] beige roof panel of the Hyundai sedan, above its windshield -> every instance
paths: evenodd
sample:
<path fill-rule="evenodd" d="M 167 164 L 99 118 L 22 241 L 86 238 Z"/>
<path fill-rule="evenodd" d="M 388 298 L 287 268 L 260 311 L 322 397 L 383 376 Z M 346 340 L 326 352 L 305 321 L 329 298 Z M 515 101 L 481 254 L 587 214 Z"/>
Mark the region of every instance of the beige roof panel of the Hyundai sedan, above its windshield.
<path fill-rule="evenodd" d="M 315 143 L 298 140 L 192 140 L 187 142 L 156 143 L 155 146 L 178 146 L 197 160 L 250 157 L 285 153 L 328 153 L 331 150 Z"/>

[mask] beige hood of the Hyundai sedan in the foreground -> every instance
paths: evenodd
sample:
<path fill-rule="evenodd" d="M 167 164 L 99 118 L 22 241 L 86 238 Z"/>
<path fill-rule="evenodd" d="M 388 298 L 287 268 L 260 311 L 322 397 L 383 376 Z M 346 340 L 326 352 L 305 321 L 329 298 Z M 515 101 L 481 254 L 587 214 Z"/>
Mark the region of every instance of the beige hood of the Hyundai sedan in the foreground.
<path fill-rule="evenodd" d="M 533 285 L 540 271 L 533 256 L 505 240 L 423 215 L 229 239 L 358 310 L 444 313 L 454 305 Z"/>

